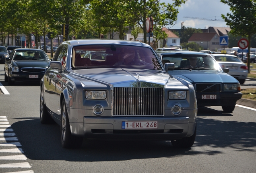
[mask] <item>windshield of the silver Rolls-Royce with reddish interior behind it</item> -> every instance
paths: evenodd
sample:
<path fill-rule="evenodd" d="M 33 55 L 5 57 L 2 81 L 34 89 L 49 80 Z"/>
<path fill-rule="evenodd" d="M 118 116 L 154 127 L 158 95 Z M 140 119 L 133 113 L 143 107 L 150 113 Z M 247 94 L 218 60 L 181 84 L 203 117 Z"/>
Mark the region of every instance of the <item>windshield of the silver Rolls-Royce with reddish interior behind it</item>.
<path fill-rule="evenodd" d="M 72 68 L 144 68 L 162 70 L 157 56 L 150 48 L 127 45 L 74 46 Z"/>

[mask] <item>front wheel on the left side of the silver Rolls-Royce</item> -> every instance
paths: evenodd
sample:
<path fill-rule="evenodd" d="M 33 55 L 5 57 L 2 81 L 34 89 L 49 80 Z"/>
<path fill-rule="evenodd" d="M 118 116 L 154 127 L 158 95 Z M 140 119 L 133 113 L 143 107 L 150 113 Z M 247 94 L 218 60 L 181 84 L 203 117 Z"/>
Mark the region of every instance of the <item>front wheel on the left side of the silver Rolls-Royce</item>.
<path fill-rule="evenodd" d="M 61 104 L 61 124 L 60 124 L 61 145 L 63 148 L 79 148 L 83 144 L 82 137 L 76 137 L 71 134 L 68 111 L 65 100 Z"/>

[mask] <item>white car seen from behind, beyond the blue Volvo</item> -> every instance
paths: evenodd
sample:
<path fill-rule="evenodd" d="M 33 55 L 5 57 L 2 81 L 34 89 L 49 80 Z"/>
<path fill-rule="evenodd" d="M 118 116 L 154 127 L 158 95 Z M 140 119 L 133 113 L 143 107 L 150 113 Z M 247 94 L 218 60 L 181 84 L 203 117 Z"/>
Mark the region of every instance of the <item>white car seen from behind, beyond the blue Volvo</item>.
<path fill-rule="evenodd" d="M 221 68 L 229 68 L 227 74 L 236 78 L 240 84 L 244 84 L 248 75 L 248 67 L 239 57 L 231 54 L 212 54 L 212 56 Z"/>

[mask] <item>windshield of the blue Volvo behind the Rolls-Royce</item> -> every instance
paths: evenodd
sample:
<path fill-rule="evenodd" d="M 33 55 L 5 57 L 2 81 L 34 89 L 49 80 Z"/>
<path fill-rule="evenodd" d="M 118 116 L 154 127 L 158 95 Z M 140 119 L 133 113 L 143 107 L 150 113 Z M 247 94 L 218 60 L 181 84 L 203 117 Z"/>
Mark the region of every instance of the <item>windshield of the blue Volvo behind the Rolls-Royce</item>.
<path fill-rule="evenodd" d="M 200 70 L 221 70 L 219 64 L 211 55 L 196 54 L 163 54 L 162 62 L 171 62 L 175 64 L 174 70 L 182 68 L 200 69 Z"/>

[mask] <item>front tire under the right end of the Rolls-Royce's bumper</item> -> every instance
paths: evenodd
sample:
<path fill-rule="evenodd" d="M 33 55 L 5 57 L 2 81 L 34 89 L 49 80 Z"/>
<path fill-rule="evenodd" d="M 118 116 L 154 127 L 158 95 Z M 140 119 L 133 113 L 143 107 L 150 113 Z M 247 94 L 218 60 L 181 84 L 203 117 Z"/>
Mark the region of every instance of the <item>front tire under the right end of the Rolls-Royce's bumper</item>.
<path fill-rule="evenodd" d="M 173 145 L 173 147 L 190 148 L 194 144 L 195 139 L 196 139 L 196 128 L 192 136 L 185 137 L 178 140 L 171 140 L 171 144 Z"/>

